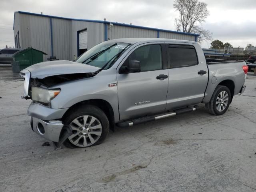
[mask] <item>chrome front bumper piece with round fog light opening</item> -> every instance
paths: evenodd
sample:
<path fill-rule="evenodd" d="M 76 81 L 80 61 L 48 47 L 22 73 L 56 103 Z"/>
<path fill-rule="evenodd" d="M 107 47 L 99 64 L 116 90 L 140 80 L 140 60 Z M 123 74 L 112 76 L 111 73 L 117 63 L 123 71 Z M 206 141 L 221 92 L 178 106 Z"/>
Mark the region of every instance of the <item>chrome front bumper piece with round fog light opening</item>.
<path fill-rule="evenodd" d="M 57 120 L 41 120 L 36 117 L 32 117 L 32 129 L 38 135 L 46 138 L 47 140 L 59 142 L 60 132 L 63 124 Z"/>

